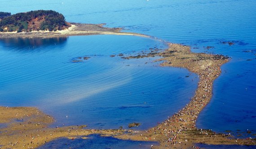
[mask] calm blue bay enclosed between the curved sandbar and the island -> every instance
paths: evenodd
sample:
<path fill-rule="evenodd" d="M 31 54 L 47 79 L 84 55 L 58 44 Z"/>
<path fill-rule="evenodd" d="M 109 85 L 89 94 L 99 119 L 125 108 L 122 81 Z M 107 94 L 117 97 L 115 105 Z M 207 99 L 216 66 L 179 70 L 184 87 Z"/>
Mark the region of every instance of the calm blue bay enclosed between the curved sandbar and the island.
<path fill-rule="evenodd" d="M 196 89 L 197 76 L 185 77 L 185 69 L 159 67 L 160 62 L 153 62 L 157 58 L 118 56 L 166 48 L 159 40 L 96 35 L 59 43 L 21 39 L 27 43 L 22 47 L 18 40 L 0 41 L 0 102 L 39 107 L 57 119 L 53 126 L 128 128 L 138 122 L 146 129 L 178 111 Z"/>

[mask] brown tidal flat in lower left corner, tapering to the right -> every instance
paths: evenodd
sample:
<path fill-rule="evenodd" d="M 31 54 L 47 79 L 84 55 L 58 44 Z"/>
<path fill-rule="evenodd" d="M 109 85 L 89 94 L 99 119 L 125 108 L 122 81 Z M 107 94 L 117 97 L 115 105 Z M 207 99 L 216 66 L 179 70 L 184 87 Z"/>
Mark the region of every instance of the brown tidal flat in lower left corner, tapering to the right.
<path fill-rule="evenodd" d="M 75 139 L 77 136 L 101 134 L 118 135 L 123 130 L 87 130 L 86 126 L 48 128 L 54 118 L 31 107 L 0 106 L 0 123 L 7 127 L 0 129 L 0 149 L 32 149 L 59 137 Z M 3 145 L 3 146 L 1 146 Z"/>

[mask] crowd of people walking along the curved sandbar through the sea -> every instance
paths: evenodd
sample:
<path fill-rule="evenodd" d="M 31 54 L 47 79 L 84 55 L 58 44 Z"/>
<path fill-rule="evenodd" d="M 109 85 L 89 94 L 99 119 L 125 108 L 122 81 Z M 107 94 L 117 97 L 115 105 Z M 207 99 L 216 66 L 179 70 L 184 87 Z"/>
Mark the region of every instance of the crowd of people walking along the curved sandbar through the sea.
<path fill-rule="evenodd" d="M 166 53 L 172 53 L 172 55 L 168 54 L 166 57 L 164 53 L 161 54 L 165 57 L 163 60 L 166 60 L 162 65 L 183 67 L 189 69 L 190 72 L 198 74 L 198 89 L 194 97 L 191 98 L 190 102 L 183 109 L 162 123 L 159 123 L 156 127 L 147 130 L 145 134 L 147 138 L 154 136 L 166 147 L 172 146 L 177 148 L 177 145 L 181 147 L 187 145 L 188 141 L 192 141 L 193 138 L 184 135 L 185 131 L 198 130 L 195 127 L 196 119 L 203 107 L 210 101 L 212 97 L 212 83 L 220 75 L 220 67 L 225 63 L 225 60 L 214 59 L 213 55 L 191 53 L 184 48 L 183 51 L 177 51 L 177 48 L 172 49 L 172 45 L 170 45 L 170 49 L 174 52 L 166 51 Z M 186 55 L 186 59 L 182 59 L 184 55 Z M 197 132 L 202 135 L 209 135 L 204 130 Z"/>

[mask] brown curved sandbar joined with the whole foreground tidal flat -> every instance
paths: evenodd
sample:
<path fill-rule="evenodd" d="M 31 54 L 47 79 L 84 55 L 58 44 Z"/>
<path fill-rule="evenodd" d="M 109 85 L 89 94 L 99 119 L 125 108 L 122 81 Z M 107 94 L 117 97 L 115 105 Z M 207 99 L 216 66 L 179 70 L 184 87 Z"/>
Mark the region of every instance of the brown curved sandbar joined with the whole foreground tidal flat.
<path fill-rule="evenodd" d="M 190 47 L 180 44 L 168 43 L 168 46 L 167 50 L 154 53 L 154 56 L 162 57 L 159 59 L 164 61 L 161 66 L 187 68 L 190 72 L 198 74 L 200 80 L 198 89 L 190 102 L 175 115 L 170 115 L 164 122 L 146 131 L 87 130 L 85 126 L 48 128 L 54 121 L 53 117 L 45 115 L 36 108 L 0 107 L 0 123 L 7 124 L 6 127 L 0 128 L 0 145 L 3 145 L 1 148 L 35 148 L 59 137 L 72 139 L 76 136 L 95 133 L 120 139 L 159 141 L 160 146 L 153 146 L 153 148 L 185 149 L 193 148 L 194 143 L 256 145 L 255 139 L 235 139 L 229 134 L 216 134 L 211 130 L 195 127 L 200 111 L 212 97 L 212 83 L 220 75 L 220 67 L 228 62 L 228 57 L 192 53 Z"/>

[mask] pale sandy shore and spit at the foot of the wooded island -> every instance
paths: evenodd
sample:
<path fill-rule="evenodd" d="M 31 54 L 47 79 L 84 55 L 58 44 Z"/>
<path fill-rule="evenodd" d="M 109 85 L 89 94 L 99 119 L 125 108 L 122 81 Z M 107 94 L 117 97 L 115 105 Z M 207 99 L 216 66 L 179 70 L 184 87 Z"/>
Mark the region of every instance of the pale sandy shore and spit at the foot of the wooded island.
<path fill-rule="evenodd" d="M 71 23 L 71 27 L 66 30 L 57 31 L 32 31 L 32 32 L 0 32 L 0 38 L 53 38 L 66 36 L 97 35 L 97 34 L 115 34 L 132 35 L 141 37 L 150 37 L 144 34 L 120 32 L 122 28 L 103 27 L 105 24 L 80 24 Z"/>

